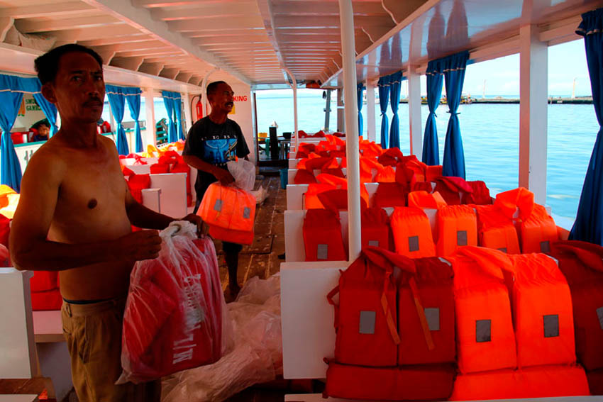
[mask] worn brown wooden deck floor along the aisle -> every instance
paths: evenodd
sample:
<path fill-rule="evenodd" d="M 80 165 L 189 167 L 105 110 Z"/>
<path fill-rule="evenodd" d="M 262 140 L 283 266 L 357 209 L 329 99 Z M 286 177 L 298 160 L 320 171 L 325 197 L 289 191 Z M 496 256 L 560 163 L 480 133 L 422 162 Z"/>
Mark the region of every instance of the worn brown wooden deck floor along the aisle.
<path fill-rule="evenodd" d="M 250 278 L 266 279 L 279 272 L 280 263 L 284 261 L 279 259 L 279 255 L 284 253 L 284 210 L 287 208 L 287 193 L 280 188 L 280 177 L 278 176 L 263 177 L 256 182 L 255 188 L 258 189 L 260 186 L 267 189 L 268 196 L 256 210 L 255 240 L 252 245 L 243 247 L 239 256 L 237 280 L 240 286 L 243 286 Z M 222 287 L 226 291 L 228 270 L 219 240 L 216 240 L 216 250 L 218 251 Z M 322 387 L 322 384 L 316 381 L 284 381 L 281 379 L 271 384 L 245 389 L 245 391 L 228 398 L 228 402 L 282 402 L 286 393 L 321 392 Z M 0 394 L 40 394 L 43 390 L 43 379 L 0 380 Z M 65 401 L 77 402 L 77 396 L 72 392 L 65 398 Z"/>

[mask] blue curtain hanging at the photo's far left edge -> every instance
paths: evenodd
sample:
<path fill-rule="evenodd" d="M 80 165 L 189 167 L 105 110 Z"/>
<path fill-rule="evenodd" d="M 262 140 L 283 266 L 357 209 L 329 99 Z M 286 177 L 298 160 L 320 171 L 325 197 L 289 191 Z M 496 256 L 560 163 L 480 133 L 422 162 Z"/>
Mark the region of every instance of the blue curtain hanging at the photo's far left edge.
<path fill-rule="evenodd" d="M 11 128 L 17 118 L 23 92 L 19 90 L 19 77 L 0 75 L 0 184 L 21 192 L 21 164 L 11 138 Z"/>

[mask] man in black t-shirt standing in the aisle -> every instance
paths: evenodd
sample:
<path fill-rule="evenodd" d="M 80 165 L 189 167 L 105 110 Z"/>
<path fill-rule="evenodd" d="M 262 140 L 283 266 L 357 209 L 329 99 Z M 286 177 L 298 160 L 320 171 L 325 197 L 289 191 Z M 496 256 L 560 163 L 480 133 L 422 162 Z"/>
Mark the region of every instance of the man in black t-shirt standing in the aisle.
<path fill-rule="evenodd" d="M 236 157 L 248 160 L 249 148 L 243 132 L 236 122 L 228 119 L 228 113 L 233 110 L 233 96 L 233 89 L 226 82 L 209 84 L 207 99 L 211 113 L 194 123 L 189 130 L 182 156 L 184 162 L 197 169 L 197 182 L 194 185 L 197 203 L 194 213 L 197 213 L 209 184 L 218 181 L 221 184 L 231 184 L 234 181 L 226 168 L 228 161 L 235 160 Z M 238 254 L 243 246 L 222 242 L 222 249 L 228 265 L 230 291 L 236 296 L 240 289 L 237 283 Z"/>

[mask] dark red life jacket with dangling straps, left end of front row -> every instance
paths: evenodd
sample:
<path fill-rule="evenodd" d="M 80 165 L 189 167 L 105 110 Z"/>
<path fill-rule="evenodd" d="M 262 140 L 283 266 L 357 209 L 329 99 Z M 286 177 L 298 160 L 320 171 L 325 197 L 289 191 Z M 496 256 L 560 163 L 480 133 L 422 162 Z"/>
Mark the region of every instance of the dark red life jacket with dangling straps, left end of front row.
<path fill-rule="evenodd" d="M 455 347 L 452 270 L 446 262 L 365 247 L 327 298 L 335 306 L 336 346 L 325 396 L 448 398 Z"/>

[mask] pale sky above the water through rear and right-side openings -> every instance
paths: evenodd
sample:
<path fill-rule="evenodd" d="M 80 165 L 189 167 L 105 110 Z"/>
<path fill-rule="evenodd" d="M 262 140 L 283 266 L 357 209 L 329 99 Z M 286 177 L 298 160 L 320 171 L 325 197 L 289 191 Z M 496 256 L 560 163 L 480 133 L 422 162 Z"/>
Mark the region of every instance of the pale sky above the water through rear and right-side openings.
<path fill-rule="evenodd" d="M 568 60 L 571 62 L 568 63 Z M 590 96 L 590 79 L 586 64 L 584 40 L 555 45 L 548 48 L 548 94 L 549 96 L 572 95 L 576 79 L 576 96 Z M 474 98 L 482 96 L 484 81 L 486 96 L 519 97 L 519 54 L 500 57 L 487 62 L 467 66 L 463 95 Z M 259 91 L 258 96 L 289 93 L 290 89 Z M 444 90 L 446 92 L 446 90 Z M 316 90 L 299 89 L 299 96 L 316 94 Z M 402 82 L 402 97 L 408 94 L 408 83 Z M 421 95 L 426 96 L 426 77 L 421 76 Z"/>

